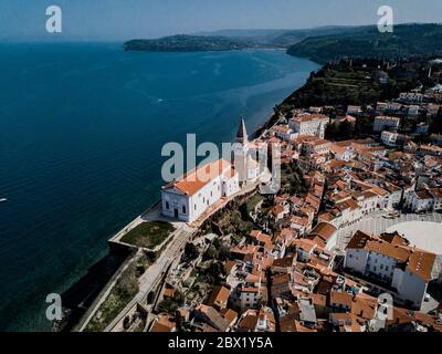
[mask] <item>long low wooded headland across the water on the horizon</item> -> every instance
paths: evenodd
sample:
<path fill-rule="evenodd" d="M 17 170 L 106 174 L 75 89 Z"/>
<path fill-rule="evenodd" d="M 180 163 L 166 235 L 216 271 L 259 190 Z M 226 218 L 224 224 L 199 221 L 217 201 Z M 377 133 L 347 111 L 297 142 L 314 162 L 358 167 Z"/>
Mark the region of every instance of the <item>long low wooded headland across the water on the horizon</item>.
<path fill-rule="evenodd" d="M 155 40 L 131 40 L 124 43 L 126 51 L 149 52 L 231 51 L 262 46 L 269 48 L 270 45 L 250 42 L 246 39 L 188 34 L 164 37 Z"/>

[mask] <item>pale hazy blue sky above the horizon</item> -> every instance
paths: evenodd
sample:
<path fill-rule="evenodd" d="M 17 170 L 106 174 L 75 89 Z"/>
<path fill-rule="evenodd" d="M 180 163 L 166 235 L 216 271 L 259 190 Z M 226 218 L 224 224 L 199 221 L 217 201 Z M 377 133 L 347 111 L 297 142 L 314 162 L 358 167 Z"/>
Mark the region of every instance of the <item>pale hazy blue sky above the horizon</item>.
<path fill-rule="evenodd" d="M 51 39 L 45 10 L 63 10 L 64 39 L 152 38 L 220 29 L 376 24 L 379 6 L 396 22 L 442 22 L 442 0 L 0 0 L 1 39 Z"/>

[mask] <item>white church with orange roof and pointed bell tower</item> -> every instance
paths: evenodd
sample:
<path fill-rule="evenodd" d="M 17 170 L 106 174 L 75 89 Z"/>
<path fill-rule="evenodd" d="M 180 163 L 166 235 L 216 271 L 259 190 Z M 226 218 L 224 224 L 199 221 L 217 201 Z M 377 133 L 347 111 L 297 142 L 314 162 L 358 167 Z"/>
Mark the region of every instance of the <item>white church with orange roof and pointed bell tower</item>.
<path fill-rule="evenodd" d="M 229 198 L 248 184 L 256 183 L 265 168 L 266 147 L 249 142 L 244 119 L 241 119 L 233 162 L 219 159 L 198 166 L 164 186 L 162 215 L 193 222 L 222 198 Z"/>

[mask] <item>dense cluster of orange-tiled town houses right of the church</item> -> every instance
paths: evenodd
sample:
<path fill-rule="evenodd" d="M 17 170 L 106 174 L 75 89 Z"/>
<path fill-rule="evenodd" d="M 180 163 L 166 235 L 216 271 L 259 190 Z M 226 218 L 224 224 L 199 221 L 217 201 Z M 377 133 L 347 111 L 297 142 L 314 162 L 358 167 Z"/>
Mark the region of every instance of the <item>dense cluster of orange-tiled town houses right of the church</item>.
<path fill-rule="evenodd" d="M 389 80 L 386 72 L 376 77 Z M 422 311 L 429 283 L 438 281 L 436 254 L 398 233 L 359 230 L 346 246 L 337 243 L 340 230 L 375 211 L 442 210 L 442 135 L 432 133 L 441 103 L 436 86 L 348 106 L 333 117 L 329 106 L 281 115 L 253 142 L 281 145 L 280 194 L 262 196 L 246 210 L 250 232 L 217 241 L 215 249 L 227 249 L 223 259 L 204 264 L 200 256 L 180 266 L 187 275 L 166 291 L 182 292 L 183 301 L 158 315 L 150 331 L 442 331 L 441 309 Z M 360 118 L 371 124 L 366 137 L 327 136 L 329 125 Z M 212 239 L 198 241 L 200 254 L 213 248 Z M 213 263 L 222 264 L 218 280 L 197 300 L 194 292 L 187 298 L 192 285 L 182 284 L 198 278 L 189 272 Z M 394 303 L 387 319 L 379 315 L 378 295 L 385 293 Z"/>

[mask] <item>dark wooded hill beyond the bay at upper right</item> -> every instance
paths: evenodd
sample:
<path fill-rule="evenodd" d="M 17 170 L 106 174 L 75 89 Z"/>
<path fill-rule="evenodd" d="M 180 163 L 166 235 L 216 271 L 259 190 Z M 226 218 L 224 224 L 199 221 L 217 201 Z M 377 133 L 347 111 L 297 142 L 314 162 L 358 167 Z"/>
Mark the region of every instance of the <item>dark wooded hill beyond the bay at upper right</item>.
<path fill-rule="evenodd" d="M 380 33 L 376 27 L 356 28 L 345 33 L 311 37 L 287 53 L 318 63 L 345 56 L 396 59 L 442 54 L 441 24 L 401 24 L 393 33 Z"/>

